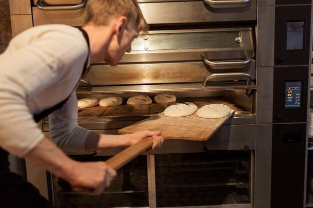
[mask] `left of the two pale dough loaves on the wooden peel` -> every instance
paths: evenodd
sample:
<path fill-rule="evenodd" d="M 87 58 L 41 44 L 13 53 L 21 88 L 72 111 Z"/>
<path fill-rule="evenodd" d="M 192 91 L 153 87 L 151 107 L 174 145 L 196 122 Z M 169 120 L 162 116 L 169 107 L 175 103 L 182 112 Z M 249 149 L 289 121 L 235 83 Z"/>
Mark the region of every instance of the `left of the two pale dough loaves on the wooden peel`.
<path fill-rule="evenodd" d="M 174 105 L 168 106 L 163 114 L 166 117 L 183 117 L 190 116 L 197 111 L 196 105 L 193 103 L 177 103 Z"/>

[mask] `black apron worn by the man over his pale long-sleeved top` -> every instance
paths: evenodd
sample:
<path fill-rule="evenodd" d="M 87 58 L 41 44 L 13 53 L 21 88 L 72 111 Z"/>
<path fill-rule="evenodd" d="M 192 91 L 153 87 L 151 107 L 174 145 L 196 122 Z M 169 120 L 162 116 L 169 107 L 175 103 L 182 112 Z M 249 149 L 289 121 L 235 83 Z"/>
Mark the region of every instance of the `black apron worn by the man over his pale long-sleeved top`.
<path fill-rule="evenodd" d="M 89 49 L 89 38 L 87 33 L 80 29 Z M 82 74 L 88 64 L 89 52 L 83 66 Z M 78 83 L 79 80 L 77 80 Z M 76 86 L 75 86 L 76 87 Z M 53 111 L 61 108 L 68 100 L 68 97 L 55 106 L 33 115 L 33 119 L 38 122 Z M 42 196 L 39 191 L 30 183 L 9 170 L 8 152 L 0 148 L 0 208 L 53 208 L 53 206 Z"/>

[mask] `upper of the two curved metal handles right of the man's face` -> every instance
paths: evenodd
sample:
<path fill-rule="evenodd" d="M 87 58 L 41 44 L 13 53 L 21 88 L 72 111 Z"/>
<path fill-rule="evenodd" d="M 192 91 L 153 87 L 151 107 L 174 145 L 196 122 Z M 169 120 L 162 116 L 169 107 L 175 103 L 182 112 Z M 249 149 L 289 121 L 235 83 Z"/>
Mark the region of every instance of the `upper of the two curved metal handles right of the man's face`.
<path fill-rule="evenodd" d="M 206 65 L 209 65 L 212 69 L 228 69 L 231 68 L 244 68 L 246 64 L 248 64 L 251 61 L 251 58 L 249 55 L 244 54 L 245 60 L 243 61 L 211 61 L 208 60 L 205 55 L 202 53 L 202 60 Z"/>

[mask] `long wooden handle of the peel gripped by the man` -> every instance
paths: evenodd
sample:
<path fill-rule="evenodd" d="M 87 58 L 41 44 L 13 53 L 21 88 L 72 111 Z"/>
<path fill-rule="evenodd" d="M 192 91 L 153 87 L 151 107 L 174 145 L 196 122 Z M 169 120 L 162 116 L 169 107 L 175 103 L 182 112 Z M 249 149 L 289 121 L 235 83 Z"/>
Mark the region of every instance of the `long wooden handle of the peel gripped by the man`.
<path fill-rule="evenodd" d="M 110 159 L 106 160 L 105 163 L 112 169 L 117 171 L 118 169 L 126 165 L 128 162 L 130 162 L 132 159 L 134 159 L 135 157 L 137 157 L 138 155 L 152 147 L 152 144 L 153 144 L 152 137 L 146 137 L 141 141 L 137 142 L 136 144 L 131 145 L 130 147 L 112 156 Z M 62 179 L 59 180 L 61 180 L 61 184 L 67 183 Z M 65 186 L 70 187 L 68 183 Z M 86 187 L 71 187 L 70 189 L 72 192 L 92 191 L 92 189 Z"/>

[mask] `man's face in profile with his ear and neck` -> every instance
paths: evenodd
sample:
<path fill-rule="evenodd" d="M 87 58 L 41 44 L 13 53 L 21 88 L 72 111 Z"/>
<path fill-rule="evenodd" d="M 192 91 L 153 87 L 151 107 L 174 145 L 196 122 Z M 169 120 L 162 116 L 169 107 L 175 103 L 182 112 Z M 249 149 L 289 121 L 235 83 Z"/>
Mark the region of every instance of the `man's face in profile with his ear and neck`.
<path fill-rule="evenodd" d="M 121 28 L 119 35 L 115 34 L 112 41 L 108 46 L 108 54 L 104 61 L 111 65 L 116 66 L 125 52 L 130 52 L 131 42 L 138 36 L 138 30 L 131 26 L 128 29 Z"/>

